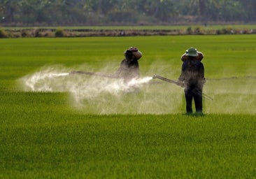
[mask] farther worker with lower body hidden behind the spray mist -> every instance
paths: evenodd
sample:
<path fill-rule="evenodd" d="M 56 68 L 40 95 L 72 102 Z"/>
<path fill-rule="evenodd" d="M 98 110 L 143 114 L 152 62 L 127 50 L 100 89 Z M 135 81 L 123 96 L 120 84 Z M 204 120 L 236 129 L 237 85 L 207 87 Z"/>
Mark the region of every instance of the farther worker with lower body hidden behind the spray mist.
<path fill-rule="evenodd" d="M 118 71 L 114 76 L 124 79 L 128 83 L 132 79 L 140 77 L 138 59 L 142 57 L 142 53 L 138 48 L 131 47 L 125 50 L 125 59 L 122 60 Z"/>

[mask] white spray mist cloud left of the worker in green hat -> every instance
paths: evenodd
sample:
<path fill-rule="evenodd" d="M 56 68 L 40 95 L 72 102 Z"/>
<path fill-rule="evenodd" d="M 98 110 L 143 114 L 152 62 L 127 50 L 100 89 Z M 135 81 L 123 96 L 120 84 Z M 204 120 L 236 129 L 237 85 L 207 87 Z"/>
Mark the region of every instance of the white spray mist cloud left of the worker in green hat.
<path fill-rule="evenodd" d="M 181 103 L 180 95 L 166 100 L 166 96 L 172 94 L 166 92 L 164 86 L 170 87 L 170 84 L 152 80 L 151 76 L 124 83 L 122 79 L 70 74 L 71 71 L 64 66 L 46 66 L 20 78 L 19 83 L 26 92 L 69 92 L 71 105 L 88 113 L 162 114 L 180 110 L 175 102 Z M 173 92 L 178 89 L 171 87 Z M 182 90 L 176 92 L 182 93 Z"/>

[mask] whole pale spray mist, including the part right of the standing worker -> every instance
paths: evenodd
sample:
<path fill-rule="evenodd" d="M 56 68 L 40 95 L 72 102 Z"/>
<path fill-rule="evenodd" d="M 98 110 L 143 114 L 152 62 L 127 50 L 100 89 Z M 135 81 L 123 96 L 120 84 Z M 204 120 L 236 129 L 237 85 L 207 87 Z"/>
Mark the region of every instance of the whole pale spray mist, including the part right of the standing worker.
<path fill-rule="evenodd" d="M 183 88 L 177 85 L 152 80 L 152 76 L 124 83 L 116 78 L 70 74 L 72 70 L 64 66 L 46 66 L 20 78 L 19 84 L 25 92 L 67 92 L 71 106 L 85 113 L 185 113 Z M 255 114 L 255 87 L 254 76 L 208 79 L 204 85 L 204 113 Z"/>

